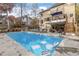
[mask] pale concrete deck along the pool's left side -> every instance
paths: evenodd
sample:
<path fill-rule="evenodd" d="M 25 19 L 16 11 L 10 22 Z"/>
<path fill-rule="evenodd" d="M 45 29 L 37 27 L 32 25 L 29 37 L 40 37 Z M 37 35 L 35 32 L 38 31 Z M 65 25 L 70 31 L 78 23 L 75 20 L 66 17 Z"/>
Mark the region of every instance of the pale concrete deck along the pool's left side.
<path fill-rule="evenodd" d="M 0 34 L 0 56 L 32 56 L 31 52 L 25 50 L 22 46 L 13 40 L 10 40 L 6 34 Z"/>

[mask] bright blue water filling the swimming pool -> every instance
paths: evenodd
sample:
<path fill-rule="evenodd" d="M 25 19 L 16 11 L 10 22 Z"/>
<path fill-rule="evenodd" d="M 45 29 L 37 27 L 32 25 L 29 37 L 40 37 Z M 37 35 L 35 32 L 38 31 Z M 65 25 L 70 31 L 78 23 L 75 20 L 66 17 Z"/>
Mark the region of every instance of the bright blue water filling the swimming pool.
<path fill-rule="evenodd" d="M 9 32 L 7 35 L 37 56 L 52 55 L 63 40 L 59 37 L 28 32 Z"/>

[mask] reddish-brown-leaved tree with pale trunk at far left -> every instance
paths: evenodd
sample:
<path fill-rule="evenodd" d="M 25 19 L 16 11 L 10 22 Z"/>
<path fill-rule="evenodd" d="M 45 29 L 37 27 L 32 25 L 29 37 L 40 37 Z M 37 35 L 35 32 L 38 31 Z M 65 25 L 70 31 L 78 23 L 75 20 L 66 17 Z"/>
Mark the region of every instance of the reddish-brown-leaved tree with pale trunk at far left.
<path fill-rule="evenodd" d="M 12 8 L 13 8 L 14 4 L 12 3 L 0 3 L 0 13 L 6 13 L 6 18 L 8 19 L 8 13 L 11 12 Z M 9 24 L 9 20 L 6 20 L 7 21 L 7 25 L 8 25 L 8 29 L 10 27 L 10 24 Z"/>

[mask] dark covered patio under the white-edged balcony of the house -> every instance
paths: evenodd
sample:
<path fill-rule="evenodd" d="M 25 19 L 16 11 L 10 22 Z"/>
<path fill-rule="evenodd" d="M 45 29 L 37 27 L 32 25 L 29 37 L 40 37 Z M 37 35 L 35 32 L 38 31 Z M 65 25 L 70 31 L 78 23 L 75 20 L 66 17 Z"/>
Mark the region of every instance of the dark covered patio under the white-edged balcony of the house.
<path fill-rule="evenodd" d="M 46 23 L 51 25 L 51 28 L 49 29 L 50 32 L 62 33 L 64 32 L 65 22 L 66 19 L 59 19 L 59 20 L 48 21 Z"/>

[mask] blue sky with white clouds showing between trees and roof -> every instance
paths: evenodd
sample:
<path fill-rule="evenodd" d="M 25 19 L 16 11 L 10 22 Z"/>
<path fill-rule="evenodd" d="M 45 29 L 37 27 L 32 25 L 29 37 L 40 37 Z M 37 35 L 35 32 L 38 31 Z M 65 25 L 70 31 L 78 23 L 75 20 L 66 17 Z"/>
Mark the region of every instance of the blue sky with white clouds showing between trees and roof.
<path fill-rule="evenodd" d="M 23 4 L 23 5 L 26 5 L 26 4 Z M 41 10 L 46 10 L 50 7 L 52 7 L 54 5 L 54 3 L 36 3 L 37 5 L 37 9 Z M 26 12 L 28 12 L 29 14 L 31 13 L 31 6 L 32 4 L 30 3 L 27 3 L 27 5 L 23 8 L 23 14 L 25 15 Z M 26 8 L 27 7 L 27 8 Z M 28 10 L 26 10 L 28 9 Z M 16 17 L 19 17 L 21 16 L 21 11 L 20 11 L 20 4 L 16 4 L 16 7 L 13 8 L 12 12 L 9 13 L 9 15 L 13 15 L 13 16 L 16 16 Z"/>

